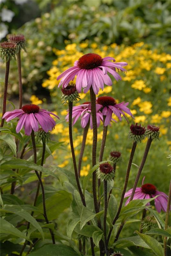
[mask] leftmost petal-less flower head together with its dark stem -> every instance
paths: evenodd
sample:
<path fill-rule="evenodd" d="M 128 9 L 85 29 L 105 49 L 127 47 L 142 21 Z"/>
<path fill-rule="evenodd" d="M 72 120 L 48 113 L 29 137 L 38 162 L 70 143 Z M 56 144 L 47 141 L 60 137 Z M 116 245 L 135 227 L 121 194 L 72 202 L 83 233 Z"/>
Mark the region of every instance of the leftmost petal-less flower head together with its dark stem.
<path fill-rule="evenodd" d="M 4 81 L 4 96 L 3 96 L 3 109 L 2 109 L 2 116 L 4 116 L 6 112 L 6 100 L 7 100 L 7 88 L 8 88 L 8 78 L 9 78 L 9 71 L 10 71 L 10 61 L 12 58 L 15 58 L 17 49 L 16 44 L 13 42 L 3 42 L 0 45 L 1 51 L 1 58 L 6 62 L 5 68 L 5 81 Z M 4 126 L 5 119 L 2 118 L 0 127 Z"/>

